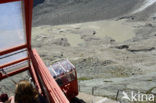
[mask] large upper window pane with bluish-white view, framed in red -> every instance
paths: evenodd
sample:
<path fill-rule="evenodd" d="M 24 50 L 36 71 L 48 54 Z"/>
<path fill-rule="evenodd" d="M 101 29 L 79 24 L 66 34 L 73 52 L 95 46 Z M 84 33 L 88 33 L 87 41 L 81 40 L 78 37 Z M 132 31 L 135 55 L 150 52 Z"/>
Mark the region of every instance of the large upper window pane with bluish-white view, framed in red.
<path fill-rule="evenodd" d="M 0 4 L 0 50 L 25 44 L 22 1 Z"/>

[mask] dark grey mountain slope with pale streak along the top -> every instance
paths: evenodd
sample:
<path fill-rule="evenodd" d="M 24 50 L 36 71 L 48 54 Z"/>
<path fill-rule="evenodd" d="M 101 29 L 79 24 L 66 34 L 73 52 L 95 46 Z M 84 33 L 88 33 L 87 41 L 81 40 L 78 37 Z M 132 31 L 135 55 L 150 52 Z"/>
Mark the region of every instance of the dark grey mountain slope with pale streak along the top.
<path fill-rule="evenodd" d="M 156 11 L 155 0 L 35 0 L 33 26 L 58 25 L 129 16 L 145 20 Z M 38 4 L 40 3 L 40 4 Z M 38 4 L 38 5 L 37 5 Z"/>

